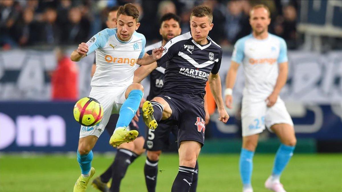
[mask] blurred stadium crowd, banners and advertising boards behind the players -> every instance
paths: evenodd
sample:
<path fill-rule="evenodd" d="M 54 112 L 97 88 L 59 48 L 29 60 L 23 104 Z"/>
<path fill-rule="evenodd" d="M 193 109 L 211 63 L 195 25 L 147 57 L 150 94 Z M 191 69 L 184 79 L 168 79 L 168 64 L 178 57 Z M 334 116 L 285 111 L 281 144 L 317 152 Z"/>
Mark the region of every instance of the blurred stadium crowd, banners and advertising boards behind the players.
<path fill-rule="evenodd" d="M 73 101 L 52 101 L 49 72 L 57 66 L 56 46 L 68 53 L 105 26 L 111 6 L 135 3 L 140 9 L 139 32 L 147 44 L 159 41 L 158 18 L 174 12 L 189 31 L 193 6 L 214 11 L 209 33 L 224 49 L 222 82 L 235 41 L 250 33 L 248 13 L 254 4 L 271 10 L 269 31 L 289 48 L 289 77 L 281 92 L 297 132 L 301 152 L 342 151 L 342 3 L 341 1 L 0 1 L 0 151 L 75 151 L 79 124 Z M 158 3 L 156 3 L 158 2 Z M 77 63 L 79 96 L 88 96 L 94 54 Z M 211 116 L 203 152 L 239 152 L 239 106 L 244 78 L 238 74 L 233 110 L 227 124 Z M 148 92 L 148 80 L 143 83 Z M 222 85 L 225 87 L 225 85 Z M 146 94 L 145 94 L 146 96 Z M 140 121 L 142 123 L 142 121 Z M 140 124 L 140 127 L 144 127 Z M 39 131 L 38 131 L 39 130 Z M 144 131 L 143 131 L 144 132 Z M 145 132 L 144 132 L 145 133 Z M 94 151 L 110 151 L 108 134 Z M 224 145 L 222 145 L 224 143 Z M 278 146 L 265 132 L 258 150 Z M 273 150 L 274 151 L 274 150 Z"/>

